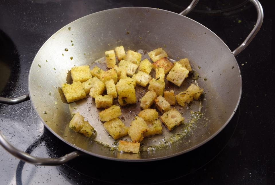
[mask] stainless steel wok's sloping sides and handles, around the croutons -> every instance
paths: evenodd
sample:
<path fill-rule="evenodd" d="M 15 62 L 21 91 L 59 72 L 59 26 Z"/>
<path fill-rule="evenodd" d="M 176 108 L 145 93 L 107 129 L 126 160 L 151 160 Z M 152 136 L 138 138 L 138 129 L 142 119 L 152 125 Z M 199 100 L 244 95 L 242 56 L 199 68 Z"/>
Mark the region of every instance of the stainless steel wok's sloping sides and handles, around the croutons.
<path fill-rule="evenodd" d="M 258 0 L 250 0 L 258 12 L 257 23 L 245 41 L 231 52 L 211 30 L 184 16 L 197 1 L 193 0 L 180 14 L 146 7 L 109 9 L 82 17 L 60 29 L 45 42 L 32 62 L 29 95 L 13 99 L 0 97 L 0 103 L 16 104 L 30 99 L 44 125 L 76 151 L 56 159 L 36 158 L 14 148 L 2 132 L 0 144 L 23 161 L 59 165 L 83 152 L 111 160 L 160 160 L 186 153 L 209 141 L 227 125 L 239 105 L 242 81 L 235 56 L 257 34 L 262 25 L 263 10 Z M 72 43 L 74 46 L 70 47 Z M 198 123 L 192 134 L 169 147 L 130 154 L 112 151 L 68 128 L 70 109 L 67 103 L 63 103 L 59 90 L 68 80 L 67 72 L 74 65 L 91 64 L 104 56 L 104 51 L 120 45 L 146 51 L 166 45 L 170 58 L 187 57 L 194 67 L 201 67 L 200 76 L 207 78 L 206 82 L 199 82 L 207 92 L 207 101 L 203 101 L 202 108 L 205 119 Z M 64 48 L 68 48 L 68 52 Z M 89 115 L 97 121 L 97 111 L 91 111 Z M 205 123 L 207 127 L 203 127 Z"/>

